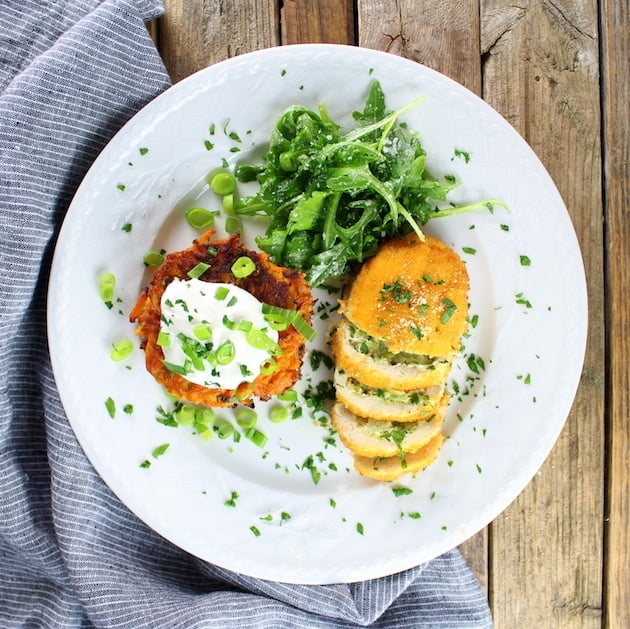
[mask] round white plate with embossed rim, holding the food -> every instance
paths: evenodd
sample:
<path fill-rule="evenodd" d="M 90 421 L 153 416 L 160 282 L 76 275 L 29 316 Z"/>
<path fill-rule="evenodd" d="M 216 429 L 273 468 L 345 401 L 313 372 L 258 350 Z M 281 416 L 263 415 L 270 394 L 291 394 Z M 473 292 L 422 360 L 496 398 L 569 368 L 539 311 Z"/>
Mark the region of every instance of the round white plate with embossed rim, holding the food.
<path fill-rule="evenodd" d="M 351 124 L 373 79 L 381 82 L 389 109 L 426 96 L 404 119 L 420 132 L 430 170 L 463 181 L 453 200 L 495 198 L 509 206 L 509 212 L 478 212 L 426 227 L 465 259 L 471 314 L 479 320 L 452 374 L 467 394 L 451 404 L 450 438 L 434 465 L 396 483 L 412 490 L 399 497 L 391 485 L 357 475 L 348 453 L 327 445 L 328 431 L 308 416 L 271 424 L 261 406 L 259 427 L 269 437 L 263 450 L 247 439 L 203 442 L 189 429 L 166 427 L 155 421 L 156 407 L 167 402 L 144 368 L 143 353 L 136 349 L 123 363 L 109 357 L 113 342 L 133 337 L 128 313 L 149 278 L 143 254 L 189 246 L 196 233 L 183 210 L 216 205 L 204 176 L 222 158 L 230 164 L 258 159 L 288 105 L 323 102 L 334 119 Z M 240 143 L 229 138 L 231 131 Z M 208 150 L 207 142 L 214 148 Z M 233 146 L 241 151 L 231 152 Z M 470 160 L 457 157 L 456 149 Z M 127 223 L 131 232 L 121 229 Z M 464 247 L 476 254 L 463 253 Z M 520 256 L 531 265 L 522 265 Z M 104 271 L 118 280 L 121 301 L 112 310 L 98 294 Z M 409 568 L 463 542 L 505 509 L 536 473 L 568 415 L 586 319 L 584 271 L 570 219 L 515 130 L 428 68 L 332 45 L 230 59 L 178 83 L 136 115 L 96 160 L 68 211 L 49 300 L 50 350 L 65 410 L 85 453 L 119 498 L 204 560 L 312 584 Z M 320 349 L 323 339 L 320 334 Z M 479 375 L 468 369 L 471 355 L 484 361 Z M 314 375 L 316 381 L 328 377 L 321 368 Z M 108 397 L 117 405 L 115 419 L 105 410 Z M 126 404 L 133 413 L 122 411 Z M 163 443 L 169 449 L 153 459 L 152 450 Z M 303 468 L 309 455 L 322 472 L 317 485 Z M 146 459 L 152 464 L 143 469 Z M 229 507 L 232 492 L 238 499 Z"/>

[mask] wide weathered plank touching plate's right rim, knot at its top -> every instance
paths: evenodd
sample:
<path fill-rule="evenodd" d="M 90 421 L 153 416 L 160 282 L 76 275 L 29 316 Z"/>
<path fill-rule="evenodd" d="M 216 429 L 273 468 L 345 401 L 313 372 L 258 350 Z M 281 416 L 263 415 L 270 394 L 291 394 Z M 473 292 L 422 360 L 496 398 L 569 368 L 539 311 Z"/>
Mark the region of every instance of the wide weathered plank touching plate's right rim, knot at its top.
<path fill-rule="evenodd" d="M 492 525 L 495 622 L 599 627 L 605 321 L 597 7 L 482 0 L 481 21 L 484 98 L 556 182 L 582 247 L 590 306 L 584 374 L 567 425 L 537 477 Z"/>

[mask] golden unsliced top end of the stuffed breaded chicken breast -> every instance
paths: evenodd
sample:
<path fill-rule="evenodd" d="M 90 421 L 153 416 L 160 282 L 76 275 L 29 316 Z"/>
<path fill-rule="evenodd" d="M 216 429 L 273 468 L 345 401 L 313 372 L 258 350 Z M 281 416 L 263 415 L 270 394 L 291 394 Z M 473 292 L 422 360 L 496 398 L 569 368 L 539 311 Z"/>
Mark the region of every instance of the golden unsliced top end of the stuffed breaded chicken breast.
<path fill-rule="evenodd" d="M 391 352 L 449 356 L 461 348 L 468 272 L 443 242 L 411 234 L 363 264 L 340 312 Z"/>

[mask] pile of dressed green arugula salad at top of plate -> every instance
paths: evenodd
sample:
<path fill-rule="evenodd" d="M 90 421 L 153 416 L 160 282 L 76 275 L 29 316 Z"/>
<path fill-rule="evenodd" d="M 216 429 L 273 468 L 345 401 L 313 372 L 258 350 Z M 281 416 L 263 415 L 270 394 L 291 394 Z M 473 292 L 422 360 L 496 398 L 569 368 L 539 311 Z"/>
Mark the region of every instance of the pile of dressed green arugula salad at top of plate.
<path fill-rule="evenodd" d="M 239 181 L 260 184 L 234 206 L 237 214 L 268 219 L 256 239 L 260 249 L 318 287 L 354 272 L 388 238 L 415 231 L 423 239 L 420 226 L 432 218 L 503 205 L 448 202 L 459 182 L 427 171 L 418 134 L 399 121 L 423 100 L 389 112 L 380 83 L 373 81 L 363 111 L 353 113 L 356 127 L 345 133 L 323 104 L 318 111 L 287 108 L 263 163 L 235 170 Z"/>

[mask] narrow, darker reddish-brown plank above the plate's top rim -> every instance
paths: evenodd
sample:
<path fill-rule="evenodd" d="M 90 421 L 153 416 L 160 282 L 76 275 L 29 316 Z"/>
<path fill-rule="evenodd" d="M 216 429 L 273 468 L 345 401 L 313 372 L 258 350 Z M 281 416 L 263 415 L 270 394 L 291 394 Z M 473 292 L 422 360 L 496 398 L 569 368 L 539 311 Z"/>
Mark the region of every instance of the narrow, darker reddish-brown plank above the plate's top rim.
<path fill-rule="evenodd" d="M 354 44 L 352 0 L 284 0 L 283 44 Z"/>

